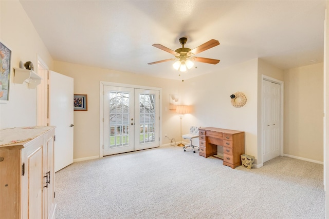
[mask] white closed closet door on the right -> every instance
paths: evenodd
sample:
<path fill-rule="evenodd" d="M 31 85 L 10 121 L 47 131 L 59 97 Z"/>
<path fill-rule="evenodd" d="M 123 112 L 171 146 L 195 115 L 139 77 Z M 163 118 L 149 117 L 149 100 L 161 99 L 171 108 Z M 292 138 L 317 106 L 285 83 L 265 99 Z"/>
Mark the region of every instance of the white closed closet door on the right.
<path fill-rule="evenodd" d="M 263 79 L 262 151 L 263 162 L 280 156 L 280 84 Z"/>

